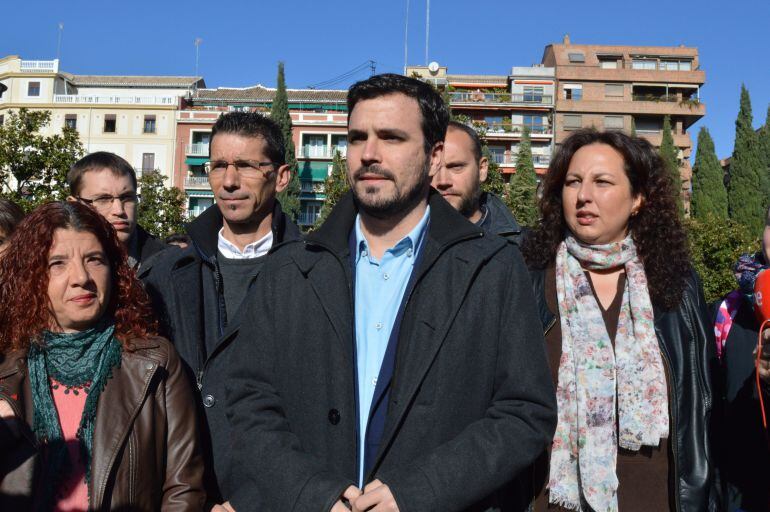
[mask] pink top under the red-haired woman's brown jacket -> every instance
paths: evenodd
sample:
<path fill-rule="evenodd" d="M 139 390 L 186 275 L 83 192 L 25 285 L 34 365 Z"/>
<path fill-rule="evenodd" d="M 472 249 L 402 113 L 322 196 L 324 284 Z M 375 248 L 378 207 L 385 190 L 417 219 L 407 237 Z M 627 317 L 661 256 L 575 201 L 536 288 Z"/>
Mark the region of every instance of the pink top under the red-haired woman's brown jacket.
<path fill-rule="evenodd" d="M 65 393 L 65 390 L 67 390 L 66 386 L 51 379 L 51 394 L 56 411 L 59 413 L 59 423 L 73 465 L 72 472 L 56 489 L 54 512 L 86 512 L 88 510 L 86 466 L 80 454 L 80 441 L 77 434 L 88 395 L 82 388 L 70 388 L 69 393 Z"/>

